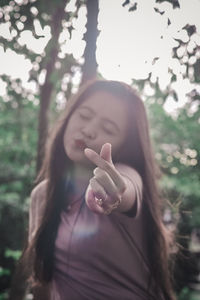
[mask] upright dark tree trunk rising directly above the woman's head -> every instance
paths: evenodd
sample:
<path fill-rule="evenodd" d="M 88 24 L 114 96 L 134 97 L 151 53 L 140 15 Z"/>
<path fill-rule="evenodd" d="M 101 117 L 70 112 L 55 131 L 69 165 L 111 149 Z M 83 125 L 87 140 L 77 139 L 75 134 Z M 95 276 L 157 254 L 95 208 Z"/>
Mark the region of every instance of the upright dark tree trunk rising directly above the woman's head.
<path fill-rule="evenodd" d="M 86 47 L 84 51 L 84 64 L 82 66 L 82 82 L 81 85 L 88 80 L 95 79 L 97 76 L 97 61 L 96 61 L 96 42 L 99 35 L 97 29 L 97 19 L 99 13 L 99 1 L 87 0 L 87 24 L 84 40 Z"/>

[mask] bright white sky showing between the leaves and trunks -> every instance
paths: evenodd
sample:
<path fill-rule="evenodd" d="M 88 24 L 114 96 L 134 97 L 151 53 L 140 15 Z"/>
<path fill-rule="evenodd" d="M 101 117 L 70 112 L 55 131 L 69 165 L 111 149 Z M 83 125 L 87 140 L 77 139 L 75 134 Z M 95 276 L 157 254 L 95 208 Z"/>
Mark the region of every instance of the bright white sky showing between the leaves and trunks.
<path fill-rule="evenodd" d="M 67 5 L 68 11 L 74 10 L 74 2 L 75 0 L 71 0 Z M 129 12 L 128 6 L 122 7 L 122 3 L 122 0 L 99 0 L 100 34 L 96 53 L 99 72 L 106 79 L 131 83 L 133 78 L 147 78 L 152 71 L 153 79 L 158 78 L 161 88 L 165 89 L 170 81 L 168 73 L 170 67 L 178 78 L 174 88 L 178 93 L 179 101 L 175 102 L 169 97 L 166 107 L 169 111 L 181 107 L 187 101 L 185 95 L 191 89 L 191 85 L 188 79 L 183 79 L 184 66 L 172 58 L 172 48 L 177 45 L 174 38 L 188 40 L 186 31 L 180 30 L 187 23 L 195 24 L 197 28 L 195 40 L 189 44 L 191 51 L 195 43 L 200 46 L 200 0 L 179 0 L 180 9 L 172 9 L 172 5 L 167 2 L 159 6 L 157 4 L 160 10 L 165 11 L 163 15 L 155 13 L 153 9 L 156 5 L 155 0 L 138 0 L 137 10 L 134 12 Z M 171 20 L 170 26 L 167 25 L 168 18 Z M 86 10 L 82 8 L 78 20 L 73 24 L 75 30 L 72 33 L 72 40 L 69 40 L 67 31 L 60 36 L 60 43 L 63 43 L 61 57 L 64 53 L 72 53 L 76 59 L 82 60 L 85 47 L 82 40 L 85 23 Z M 37 33 L 43 34 L 45 38 L 36 40 L 30 31 L 25 31 L 20 42 L 26 43 L 36 53 L 41 54 L 51 33 L 47 26 L 42 30 L 39 22 L 35 23 L 35 28 Z M 0 35 L 9 38 L 10 33 L 6 24 L 0 25 Z M 200 53 L 197 53 L 198 55 L 200 57 Z M 159 57 L 159 60 L 152 65 L 155 57 Z M 0 66 L 0 75 L 5 73 L 13 78 L 19 77 L 25 86 L 34 89 L 34 84 L 28 83 L 31 63 L 22 55 L 17 55 L 9 49 L 4 52 L 0 46 Z M 37 65 L 35 68 L 37 70 Z M 79 77 L 80 74 L 77 73 L 75 83 L 78 82 Z M 4 93 L 5 85 L 0 81 L 0 94 Z M 146 93 L 151 94 L 151 89 L 147 88 Z"/>

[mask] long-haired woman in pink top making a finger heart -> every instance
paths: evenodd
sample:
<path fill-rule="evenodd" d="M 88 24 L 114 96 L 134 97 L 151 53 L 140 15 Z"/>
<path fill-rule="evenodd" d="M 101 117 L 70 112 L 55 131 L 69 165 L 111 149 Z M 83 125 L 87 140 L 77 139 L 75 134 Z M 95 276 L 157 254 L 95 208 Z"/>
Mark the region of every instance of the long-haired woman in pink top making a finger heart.
<path fill-rule="evenodd" d="M 71 99 L 30 207 L 36 282 L 52 300 L 175 299 L 143 102 L 95 80 Z"/>

